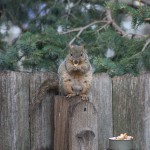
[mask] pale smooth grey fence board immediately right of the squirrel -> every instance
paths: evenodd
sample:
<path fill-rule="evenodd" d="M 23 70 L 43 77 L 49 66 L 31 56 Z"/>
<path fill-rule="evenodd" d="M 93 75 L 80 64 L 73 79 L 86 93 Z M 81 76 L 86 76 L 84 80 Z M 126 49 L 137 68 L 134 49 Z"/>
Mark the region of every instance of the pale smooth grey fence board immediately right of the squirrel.
<path fill-rule="evenodd" d="M 90 92 L 90 101 L 98 112 L 99 150 L 108 148 L 108 138 L 112 137 L 112 81 L 107 74 L 96 74 Z"/>

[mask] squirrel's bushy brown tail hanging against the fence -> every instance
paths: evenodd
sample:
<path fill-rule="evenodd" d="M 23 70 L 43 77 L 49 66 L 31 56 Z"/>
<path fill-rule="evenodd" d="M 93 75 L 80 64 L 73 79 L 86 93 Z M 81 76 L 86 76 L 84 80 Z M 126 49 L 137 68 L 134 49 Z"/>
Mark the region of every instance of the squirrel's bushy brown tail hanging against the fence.
<path fill-rule="evenodd" d="M 33 112 L 39 104 L 42 102 L 44 99 L 44 96 L 46 93 L 50 90 L 59 90 L 59 80 L 56 74 L 50 75 L 48 79 L 46 79 L 39 87 L 39 89 L 36 91 L 32 103 L 30 105 L 30 111 Z M 30 113 L 31 113 L 30 112 Z"/>

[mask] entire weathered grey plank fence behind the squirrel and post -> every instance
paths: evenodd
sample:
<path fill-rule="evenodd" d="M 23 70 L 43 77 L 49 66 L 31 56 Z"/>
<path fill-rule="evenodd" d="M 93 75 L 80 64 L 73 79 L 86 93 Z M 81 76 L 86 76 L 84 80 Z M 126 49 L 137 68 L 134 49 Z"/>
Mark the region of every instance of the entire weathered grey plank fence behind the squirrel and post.
<path fill-rule="evenodd" d="M 54 92 L 29 119 L 33 94 L 49 73 L 0 72 L 0 150 L 53 150 Z M 150 150 L 150 74 L 94 75 L 90 102 L 98 112 L 98 147 L 127 132 L 134 150 Z"/>

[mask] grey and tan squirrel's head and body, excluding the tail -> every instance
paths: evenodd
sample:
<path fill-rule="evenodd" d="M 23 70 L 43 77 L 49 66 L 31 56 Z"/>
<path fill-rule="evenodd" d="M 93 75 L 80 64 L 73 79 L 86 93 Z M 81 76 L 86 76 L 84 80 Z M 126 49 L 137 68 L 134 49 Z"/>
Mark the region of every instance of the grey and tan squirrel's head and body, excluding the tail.
<path fill-rule="evenodd" d="M 91 82 L 92 67 L 83 46 L 70 46 L 69 54 L 58 68 L 59 87 L 62 95 L 80 95 L 87 99 Z"/>

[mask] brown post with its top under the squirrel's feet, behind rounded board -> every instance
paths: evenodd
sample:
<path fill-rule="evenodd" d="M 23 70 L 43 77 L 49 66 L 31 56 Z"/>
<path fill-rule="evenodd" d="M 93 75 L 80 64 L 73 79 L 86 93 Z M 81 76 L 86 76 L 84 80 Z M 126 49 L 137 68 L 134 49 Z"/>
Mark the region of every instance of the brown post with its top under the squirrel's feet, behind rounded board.
<path fill-rule="evenodd" d="M 54 150 L 69 150 L 69 116 L 73 106 L 81 102 L 79 97 L 55 97 Z"/>

